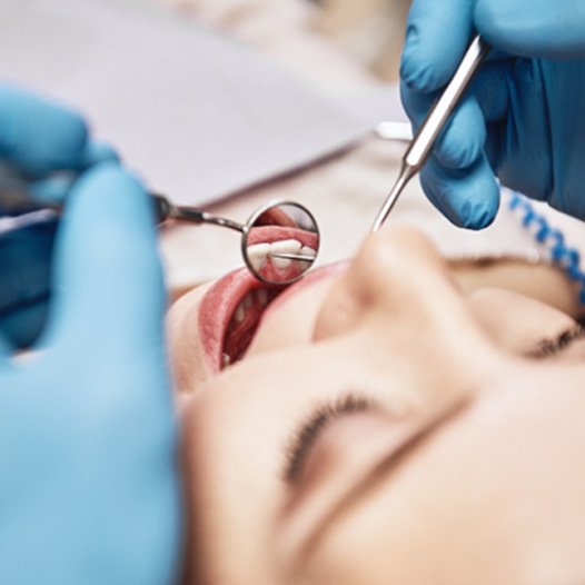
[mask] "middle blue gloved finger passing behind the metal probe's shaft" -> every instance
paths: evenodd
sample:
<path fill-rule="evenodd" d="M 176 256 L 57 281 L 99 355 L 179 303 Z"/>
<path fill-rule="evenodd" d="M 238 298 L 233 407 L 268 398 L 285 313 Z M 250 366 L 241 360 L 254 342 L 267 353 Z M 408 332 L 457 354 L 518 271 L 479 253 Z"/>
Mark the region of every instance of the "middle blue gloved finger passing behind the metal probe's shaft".
<path fill-rule="evenodd" d="M 422 95 L 404 83 L 400 95 L 415 130 L 425 120 L 435 95 Z M 452 115 L 434 147 L 434 155 L 442 165 L 464 169 L 474 165 L 482 156 L 486 140 L 484 116 L 473 93 L 467 95 Z"/>

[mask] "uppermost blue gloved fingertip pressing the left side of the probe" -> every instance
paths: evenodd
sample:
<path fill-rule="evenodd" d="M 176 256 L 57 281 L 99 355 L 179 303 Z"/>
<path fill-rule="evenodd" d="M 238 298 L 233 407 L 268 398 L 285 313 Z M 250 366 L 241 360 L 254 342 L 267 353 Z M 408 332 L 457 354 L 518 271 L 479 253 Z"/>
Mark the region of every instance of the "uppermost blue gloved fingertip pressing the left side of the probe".
<path fill-rule="evenodd" d="M 400 79 L 428 93 L 455 73 L 473 33 L 475 0 L 414 0 L 408 16 Z"/>

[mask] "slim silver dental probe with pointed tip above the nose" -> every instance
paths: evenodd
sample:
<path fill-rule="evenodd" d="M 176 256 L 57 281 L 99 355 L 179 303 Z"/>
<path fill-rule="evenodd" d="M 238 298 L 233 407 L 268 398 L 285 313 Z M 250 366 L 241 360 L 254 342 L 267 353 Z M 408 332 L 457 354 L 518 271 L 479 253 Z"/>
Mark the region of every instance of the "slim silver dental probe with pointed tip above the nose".
<path fill-rule="evenodd" d="M 420 126 L 410 142 L 410 146 L 405 152 L 398 179 L 374 220 L 371 227 L 373 232 L 377 231 L 384 221 L 386 221 L 386 218 L 408 181 L 427 161 L 439 133 L 447 125 L 453 110 L 458 106 L 463 93 L 469 86 L 477 68 L 482 65 L 488 52 L 489 44 L 487 44 L 479 36 L 475 37 L 459 63 L 457 71 L 455 71 L 453 79 L 449 81 L 435 106 L 433 106 L 423 122 L 423 126 Z"/>

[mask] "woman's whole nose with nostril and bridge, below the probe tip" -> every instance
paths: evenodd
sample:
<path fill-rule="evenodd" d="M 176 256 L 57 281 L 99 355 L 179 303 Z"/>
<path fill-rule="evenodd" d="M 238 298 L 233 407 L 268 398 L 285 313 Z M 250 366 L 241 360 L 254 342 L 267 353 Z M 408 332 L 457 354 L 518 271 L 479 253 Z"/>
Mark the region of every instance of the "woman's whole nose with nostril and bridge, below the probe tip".
<path fill-rule="evenodd" d="M 505 365 L 445 260 L 413 228 L 388 227 L 366 239 L 331 287 L 315 338 L 349 347 L 348 359 L 378 380 L 371 384 L 400 387 L 424 397 L 420 404 L 488 384 Z"/>

